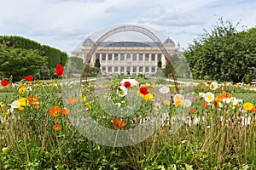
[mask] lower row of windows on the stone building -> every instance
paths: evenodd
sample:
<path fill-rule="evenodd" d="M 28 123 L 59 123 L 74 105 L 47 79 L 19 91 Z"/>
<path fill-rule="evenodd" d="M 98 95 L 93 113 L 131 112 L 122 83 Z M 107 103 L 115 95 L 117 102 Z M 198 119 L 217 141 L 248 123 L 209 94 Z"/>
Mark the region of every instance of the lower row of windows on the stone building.
<path fill-rule="evenodd" d="M 149 69 L 150 69 L 150 72 L 155 72 L 155 67 L 152 66 L 152 67 L 149 67 L 149 66 L 133 66 L 133 67 L 130 67 L 130 66 L 102 66 L 102 71 L 107 71 L 107 67 L 108 67 L 108 72 L 131 72 L 131 69 L 132 69 L 132 72 L 149 72 Z"/>

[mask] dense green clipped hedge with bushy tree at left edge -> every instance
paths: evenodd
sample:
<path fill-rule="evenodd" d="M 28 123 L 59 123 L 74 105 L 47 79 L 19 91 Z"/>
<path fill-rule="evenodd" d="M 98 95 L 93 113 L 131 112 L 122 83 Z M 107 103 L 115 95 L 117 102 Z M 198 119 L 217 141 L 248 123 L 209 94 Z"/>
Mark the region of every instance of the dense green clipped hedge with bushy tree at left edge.
<path fill-rule="evenodd" d="M 13 75 L 14 81 L 23 76 L 49 78 L 55 66 L 65 65 L 67 53 L 56 48 L 17 36 L 0 36 L 0 72 L 3 77 Z"/>

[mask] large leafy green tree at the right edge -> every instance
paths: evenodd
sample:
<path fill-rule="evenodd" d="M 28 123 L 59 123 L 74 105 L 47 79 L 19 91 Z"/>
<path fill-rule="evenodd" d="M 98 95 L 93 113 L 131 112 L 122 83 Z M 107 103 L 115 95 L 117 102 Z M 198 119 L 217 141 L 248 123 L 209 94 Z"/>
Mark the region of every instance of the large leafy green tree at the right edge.
<path fill-rule="evenodd" d="M 195 79 L 250 82 L 256 78 L 256 28 L 236 31 L 220 19 L 184 55 Z"/>

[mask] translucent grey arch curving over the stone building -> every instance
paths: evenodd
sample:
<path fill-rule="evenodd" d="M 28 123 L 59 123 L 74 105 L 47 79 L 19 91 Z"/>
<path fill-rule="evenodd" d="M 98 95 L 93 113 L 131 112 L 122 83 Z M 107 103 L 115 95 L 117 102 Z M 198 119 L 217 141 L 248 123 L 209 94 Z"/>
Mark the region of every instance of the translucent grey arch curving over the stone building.
<path fill-rule="evenodd" d="M 162 54 L 164 54 L 166 61 L 170 67 L 171 73 L 172 73 L 172 78 L 174 80 L 175 83 L 175 87 L 177 90 L 177 93 L 179 92 L 178 88 L 177 88 L 177 77 L 175 75 L 175 69 L 172 65 L 172 61 L 169 58 L 169 54 L 164 46 L 164 44 L 160 41 L 160 39 L 155 36 L 155 34 L 148 30 L 147 28 L 144 28 L 142 26 L 119 26 L 116 27 L 108 32 L 106 32 L 105 34 L 102 35 L 102 37 L 99 37 L 98 40 L 96 41 L 96 43 L 94 43 L 94 45 L 90 48 L 90 51 L 88 54 L 86 54 L 86 58 L 84 61 L 84 65 L 85 65 L 85 71 L 86 71 L 86 78 L 87 78 L 87 74 L 89 71 L 89 65 L 90 65 L 90 59 L 92 58 L 92 55 L 96 52 L 96 48 L 98 48 L 100 46 L 100 44 L 107 39 L 110 36 L 113 36 L 113 34 L 122 32 L 122 31 L 137 31 L 140 32 L 142 34 L 144 34 L 145 36 L 149 37 L 151 40 L 154 41 L 154 43 L 158 46 L 158 48 L 160 48 L 160 51 Z M 86 70 L 86 68 L 88 68 L 88 70 Z M 82 76 L 81 76 L 81 80 L 82 80 Z"/>

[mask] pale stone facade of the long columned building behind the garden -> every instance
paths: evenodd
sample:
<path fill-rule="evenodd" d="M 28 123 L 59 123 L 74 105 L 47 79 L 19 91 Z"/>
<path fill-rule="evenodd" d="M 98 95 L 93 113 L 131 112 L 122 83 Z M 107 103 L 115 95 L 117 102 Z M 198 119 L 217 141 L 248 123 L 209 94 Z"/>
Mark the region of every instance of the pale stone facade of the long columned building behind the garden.
<path fill-rule="evenodd" d="M 82 48 L 73 50 L 72 56 L 85 60 L 86 54 L 94 42 L 90 37 L 83 42 Z M 182 55 L 179 44 L 167 38 L 165 48 L 170 55 Z M 100 59 L 101 71 L 106 73 L 123 74 L 151 74 L 156 71 L 159 60 L 162 67 L 166 65 L 166 59 L 154 42 L 102 42 L 93 54 L 90 65 Z"/>

